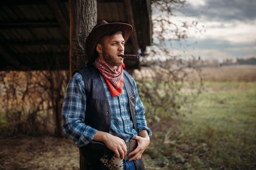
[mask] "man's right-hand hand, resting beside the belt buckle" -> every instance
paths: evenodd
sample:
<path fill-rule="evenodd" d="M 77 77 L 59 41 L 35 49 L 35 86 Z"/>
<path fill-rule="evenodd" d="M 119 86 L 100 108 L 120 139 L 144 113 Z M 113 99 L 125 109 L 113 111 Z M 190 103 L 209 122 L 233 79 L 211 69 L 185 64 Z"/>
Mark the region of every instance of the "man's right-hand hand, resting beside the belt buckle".
<path fill-rule="evenodd" d="M 131 153 L 128 154 L 128 156 L 134 155 L 129 159 L 129 161 L 140 159 L 141 155 L 144 153 L 144 151 L 149 145 L 150 138 L 148 136 L 148 131 L 146 130 L 140 131 L 138 135 L 139 136 L 136 136 L 135 138 L 133 138 L 133 139 L 137 139 L 138 146 L 135 150 L 133 150 Z"/>

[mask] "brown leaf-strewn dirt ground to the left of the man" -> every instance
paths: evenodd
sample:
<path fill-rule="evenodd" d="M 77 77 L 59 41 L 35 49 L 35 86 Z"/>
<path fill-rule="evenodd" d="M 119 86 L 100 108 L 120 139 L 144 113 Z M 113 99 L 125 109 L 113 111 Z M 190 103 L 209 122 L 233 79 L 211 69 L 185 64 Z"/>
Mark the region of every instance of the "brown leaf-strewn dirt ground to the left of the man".
<path fill-rule="evenodd" d="M 0 137 L 0 170 L 79 170 L 79 149 L 66 138 Z"/>

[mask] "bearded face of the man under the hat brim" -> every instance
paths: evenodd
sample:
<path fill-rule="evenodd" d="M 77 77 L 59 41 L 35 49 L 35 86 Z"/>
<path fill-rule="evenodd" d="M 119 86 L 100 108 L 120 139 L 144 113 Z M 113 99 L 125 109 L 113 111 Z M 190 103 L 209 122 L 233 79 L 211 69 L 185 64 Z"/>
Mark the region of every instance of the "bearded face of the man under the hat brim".
<path fill-rule="evenodd" d="M 113 70 L 122 65 L 124 59 L 118 55 L 124 54 L 124 38 L 121 33 L 106 36 L 100 44 L 99 57 Z"/>

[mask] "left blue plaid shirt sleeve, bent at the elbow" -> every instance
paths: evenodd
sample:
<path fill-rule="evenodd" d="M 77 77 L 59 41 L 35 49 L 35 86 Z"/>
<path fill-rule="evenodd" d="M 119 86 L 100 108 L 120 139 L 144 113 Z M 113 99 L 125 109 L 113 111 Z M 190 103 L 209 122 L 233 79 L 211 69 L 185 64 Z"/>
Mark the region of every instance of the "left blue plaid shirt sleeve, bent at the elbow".
<path fill-rule="evenodd" d="M 69 81 L 62 105 L 63 135 L 72 139 L 77 146 L 92 141 L 97 130 L 84 123 L 86 95 L 83 78 L 76 73 Z"/>

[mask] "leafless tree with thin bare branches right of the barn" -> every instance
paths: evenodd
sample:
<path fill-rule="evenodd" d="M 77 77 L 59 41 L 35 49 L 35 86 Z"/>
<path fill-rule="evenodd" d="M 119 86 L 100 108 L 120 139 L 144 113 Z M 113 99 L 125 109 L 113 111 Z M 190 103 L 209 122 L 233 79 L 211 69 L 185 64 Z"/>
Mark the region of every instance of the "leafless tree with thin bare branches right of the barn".
<path fill-rule="evenodd" d="M 152 0 L 153 44 L 141 57 L 141 71 L 135 74 L 139 94 L 147 109 L 149 119 L 179 114 L 180 108 L 193 103 L 202 89 L 200 57 L 192 54 L 186 59 L 175 54 L 172 43 L 185 42 L 196 21 L 182 22 L 175 15 L 188 4 L 186 0 Z M 185 13 L 182 15 L 189 17 Z M 176 20 L 174 20 L 177 18 Z M 176 22 L 175 22 L 176 21 Z M 186 45 L 180 42 L 180 46 Z"/>

